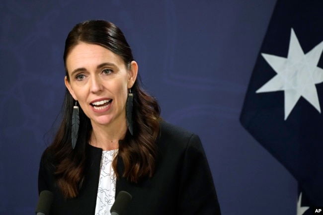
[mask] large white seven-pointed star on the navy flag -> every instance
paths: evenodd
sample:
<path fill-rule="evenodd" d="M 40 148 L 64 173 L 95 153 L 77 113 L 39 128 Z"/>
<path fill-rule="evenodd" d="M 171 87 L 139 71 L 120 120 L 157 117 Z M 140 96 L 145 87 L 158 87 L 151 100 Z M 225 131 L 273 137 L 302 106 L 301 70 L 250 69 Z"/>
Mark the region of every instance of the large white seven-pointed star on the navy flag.
<path fill-rule="evenodd" d="M 304 54 L 292 28 L 287 58 L 261 53 L 277 74 L 256 93 L 284 90 L 285 120 L 301 96 L 321 113 L 315 84 L 323 82 L 323 69 L 317 67 L 322 51 L 323 41 Z"/>

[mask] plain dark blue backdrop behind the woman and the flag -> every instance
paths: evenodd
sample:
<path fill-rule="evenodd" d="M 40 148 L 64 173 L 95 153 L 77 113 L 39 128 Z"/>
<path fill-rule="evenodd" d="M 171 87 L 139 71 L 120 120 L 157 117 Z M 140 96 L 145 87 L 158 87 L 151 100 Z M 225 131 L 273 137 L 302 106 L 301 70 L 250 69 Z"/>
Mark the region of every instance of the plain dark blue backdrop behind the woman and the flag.
<path fill-rule="evenodd" d="M 223 215 L 295 215 L 297 183 L 239 123 L 276 0 L 1 0 L 0 215 L 30 215 L 68 32 L 117 24 L 162 117 L 200 135 Z"/>

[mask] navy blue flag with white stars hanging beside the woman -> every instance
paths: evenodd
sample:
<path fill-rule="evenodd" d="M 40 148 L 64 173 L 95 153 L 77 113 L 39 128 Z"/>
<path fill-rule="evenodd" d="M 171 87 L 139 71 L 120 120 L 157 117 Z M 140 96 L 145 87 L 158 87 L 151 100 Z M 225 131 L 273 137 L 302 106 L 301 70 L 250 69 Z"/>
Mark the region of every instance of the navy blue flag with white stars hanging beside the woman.
<path fill-rule="evenodd" d="M 299 215 L 323 206 L 322 51 L 323 1 L 278 0 L 240 116 L 298 181 Z"/>

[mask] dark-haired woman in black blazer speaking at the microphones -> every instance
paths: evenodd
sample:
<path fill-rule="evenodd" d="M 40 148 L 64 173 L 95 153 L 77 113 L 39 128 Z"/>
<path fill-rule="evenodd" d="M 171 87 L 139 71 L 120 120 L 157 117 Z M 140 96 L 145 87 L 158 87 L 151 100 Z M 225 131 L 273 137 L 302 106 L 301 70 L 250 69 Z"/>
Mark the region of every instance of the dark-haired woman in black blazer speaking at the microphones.
<path fill-rule="evenodd" d="M 199 137 L 161 120 L 117 26 L 77 24 L 64 63 L 63 119 L 38 176 L 52 215 L 110 214 L 120 191 L 132 195 L 125 215 L 220 215 Z"/>

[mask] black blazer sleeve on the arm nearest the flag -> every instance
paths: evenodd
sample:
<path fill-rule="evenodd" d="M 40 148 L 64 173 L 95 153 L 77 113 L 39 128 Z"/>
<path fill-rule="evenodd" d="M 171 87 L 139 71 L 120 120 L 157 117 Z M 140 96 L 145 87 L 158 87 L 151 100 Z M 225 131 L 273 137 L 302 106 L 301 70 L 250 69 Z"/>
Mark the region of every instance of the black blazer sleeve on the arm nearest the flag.
<path fill-rule="evenodd" d="M 182 215 L 221 215 L 211 170 L 197 135 L 192 135 L 187 143 L 179 191 Z"/>

